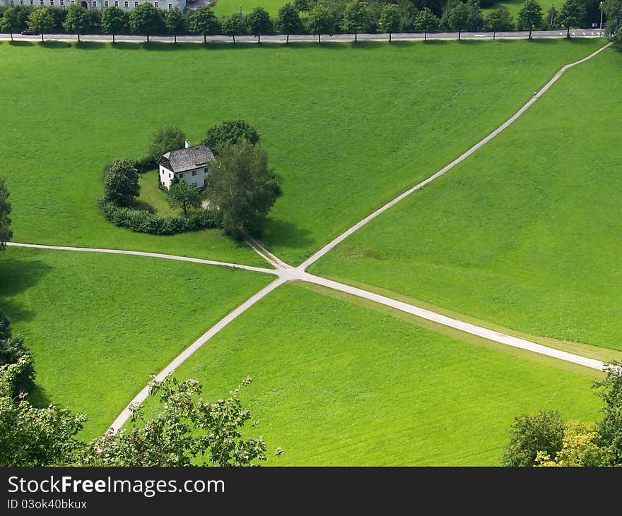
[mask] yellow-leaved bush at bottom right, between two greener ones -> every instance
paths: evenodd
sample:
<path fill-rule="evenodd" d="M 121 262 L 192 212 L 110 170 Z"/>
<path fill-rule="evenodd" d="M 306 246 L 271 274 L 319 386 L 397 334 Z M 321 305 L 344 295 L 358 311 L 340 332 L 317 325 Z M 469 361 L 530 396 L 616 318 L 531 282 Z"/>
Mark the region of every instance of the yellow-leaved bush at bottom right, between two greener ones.
<path fill-rule="evenodd" d="M 601 466 L 604 450 L 597 444 L 599 433 L 594 423 L 569 421 L 564 430 L 561 450 L 555 460 L 544 452 L 538 452 L 536 465 L 558 467 Z"/>

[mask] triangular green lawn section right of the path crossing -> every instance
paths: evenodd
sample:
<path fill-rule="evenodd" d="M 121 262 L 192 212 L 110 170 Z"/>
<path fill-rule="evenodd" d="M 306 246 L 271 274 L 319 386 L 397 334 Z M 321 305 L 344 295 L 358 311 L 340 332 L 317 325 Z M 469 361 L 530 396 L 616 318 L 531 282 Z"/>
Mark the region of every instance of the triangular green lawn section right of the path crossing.
<path fill-rule="evenodd" d="M 621 73 L 613 49 L 571 69 L 495 140 L 313 272 L 622 349 Z"/>

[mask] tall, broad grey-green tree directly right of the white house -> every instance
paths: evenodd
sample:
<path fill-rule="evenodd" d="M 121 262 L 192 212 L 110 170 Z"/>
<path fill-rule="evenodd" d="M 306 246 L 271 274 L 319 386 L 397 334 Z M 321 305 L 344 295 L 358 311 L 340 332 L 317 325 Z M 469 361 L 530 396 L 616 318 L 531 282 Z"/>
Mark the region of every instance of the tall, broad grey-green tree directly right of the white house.
<path fill-rule="evenodd" d="M 225 143 L 211 169 L 208 189 L 225 233 L 240 238 L 245 232 L 259 232 L 278 192 L 265 150 L 247 140 Z"/>

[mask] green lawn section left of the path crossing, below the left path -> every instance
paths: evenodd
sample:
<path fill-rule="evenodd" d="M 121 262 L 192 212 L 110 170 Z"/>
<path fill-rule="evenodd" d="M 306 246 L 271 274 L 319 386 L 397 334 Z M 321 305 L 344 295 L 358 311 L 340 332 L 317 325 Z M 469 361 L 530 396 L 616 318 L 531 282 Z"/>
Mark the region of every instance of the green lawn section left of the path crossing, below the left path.
<path fill-rule="evenodd" d="M 271 277 L 134 256 L 7 248 L 0 306 L 33 350 L 35 400 L 106 430 L 158 373 Z"/>

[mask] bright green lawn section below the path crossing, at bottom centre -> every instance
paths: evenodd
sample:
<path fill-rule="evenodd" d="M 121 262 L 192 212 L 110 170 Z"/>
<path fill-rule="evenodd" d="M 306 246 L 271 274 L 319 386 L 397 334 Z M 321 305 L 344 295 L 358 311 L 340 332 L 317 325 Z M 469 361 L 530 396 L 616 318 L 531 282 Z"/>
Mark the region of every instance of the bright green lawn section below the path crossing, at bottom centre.
<path fill-rule="evenodd" d="M 507 349 L 507 348 L 505 348 Z M 527 356 L 527 354 L 525 354 Z M 273 465 L 498 464 L 512 418 L 595 420 L 597 373 L 465 343 L 298 284 L 250 308 L 185 362 L 216 400 L 243 376 Z"/>

